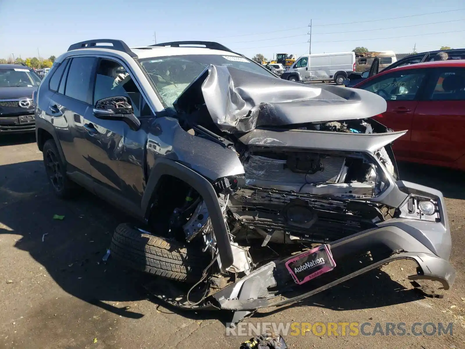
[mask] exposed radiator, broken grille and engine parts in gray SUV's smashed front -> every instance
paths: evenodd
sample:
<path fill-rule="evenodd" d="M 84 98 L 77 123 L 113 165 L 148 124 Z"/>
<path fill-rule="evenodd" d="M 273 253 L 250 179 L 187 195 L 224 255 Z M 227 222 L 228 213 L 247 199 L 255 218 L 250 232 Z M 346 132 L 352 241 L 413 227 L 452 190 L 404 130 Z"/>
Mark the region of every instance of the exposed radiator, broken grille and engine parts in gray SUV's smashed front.
<path fill-rule="evenodd" d="M 374 121 L 312 122 L 287 131 L 373 134 Z M 385 129 L 382 129 L 385 131 Z M 311 137 L 311 134 L 309 134 Z M 235 140 L 234 148 L 244 175 L 214 183 L 229 229 L 234 265 L 230 272 L 252 269 L 251 245 L 325 244 L 392 218 L 394 210 L 369 202 L 385 189 L 380 167 L 396 176 L 395 166 L 384 147 L 366 152 L 247 146 Z M 378 161 L 375 161 L 378 160 Z M 192 193 L 187 195 L 192 196 Z M 201 233 L 205 249 L 214 256 L 214 234 L 205 202 L 197 199 L 195 211 L 183 224 L 186 241 Z M 192 205 L 191 205 L 192 207 Z M 176 209 L 178 221 L 182 209 Z M 183 220 L 186 221 L 186 218 Z M 253 260 L 254 263 L 258 262 Z"/>

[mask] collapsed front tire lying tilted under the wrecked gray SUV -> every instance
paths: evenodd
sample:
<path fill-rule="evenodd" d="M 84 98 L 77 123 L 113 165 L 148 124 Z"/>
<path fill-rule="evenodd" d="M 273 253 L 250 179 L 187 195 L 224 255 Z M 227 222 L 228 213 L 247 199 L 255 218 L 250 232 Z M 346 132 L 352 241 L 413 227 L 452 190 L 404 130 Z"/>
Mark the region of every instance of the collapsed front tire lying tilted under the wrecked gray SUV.
<path fill-rule="evenodd" d="M 127 223 L 116 227 L 110 251 L 130 268 L 182 282 L 199 281 L 211 261 L 199 246 L 144 234 Z"/>

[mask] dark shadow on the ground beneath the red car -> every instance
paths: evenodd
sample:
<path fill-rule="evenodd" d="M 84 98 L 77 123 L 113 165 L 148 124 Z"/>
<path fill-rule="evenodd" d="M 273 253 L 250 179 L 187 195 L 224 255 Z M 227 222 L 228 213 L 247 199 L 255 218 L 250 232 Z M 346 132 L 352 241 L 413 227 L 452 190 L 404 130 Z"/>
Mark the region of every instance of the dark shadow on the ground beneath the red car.
<path fill-rule="evenodd" d="M 398 168 L 403 181 L 438 189 L 447 198 L 465 199 L 465 173 L 462 171 L 412 162 L 399 162 Z"/>

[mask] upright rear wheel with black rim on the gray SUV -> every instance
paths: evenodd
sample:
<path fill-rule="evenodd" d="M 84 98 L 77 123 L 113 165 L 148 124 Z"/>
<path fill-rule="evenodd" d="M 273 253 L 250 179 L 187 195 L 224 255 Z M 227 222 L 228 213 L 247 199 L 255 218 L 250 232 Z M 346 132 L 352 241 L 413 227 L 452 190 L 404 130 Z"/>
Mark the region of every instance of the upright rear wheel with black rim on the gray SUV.
<path fill-rule="evenodd" d="M 66 175 L 65 165 L 61 161 L 55 141 L 51 139 L 46 141 L 42 153 L 48 181 L 55 195 L 60 199 L 73 196 L 76 187 Z"/>

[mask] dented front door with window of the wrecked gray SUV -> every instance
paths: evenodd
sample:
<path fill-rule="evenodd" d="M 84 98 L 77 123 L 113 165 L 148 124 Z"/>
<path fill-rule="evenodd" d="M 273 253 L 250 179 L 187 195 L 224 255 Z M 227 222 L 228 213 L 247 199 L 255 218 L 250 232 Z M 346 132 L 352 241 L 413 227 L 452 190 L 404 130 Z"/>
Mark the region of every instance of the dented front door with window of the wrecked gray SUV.
<path fill-rule="evenodd" d="M 108 97 L 126 97 L 137 118 L 154 116 L 127 68 L 101 58 L 94 78 L 93 106 Z M 144 190 L 146 132 L 134 130 L 124 121 L 101 119 L 93 108 L 86 114 L 86 122 L 93 126 L 88 161 L 96 193 L 138 211 Z"/>

